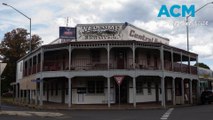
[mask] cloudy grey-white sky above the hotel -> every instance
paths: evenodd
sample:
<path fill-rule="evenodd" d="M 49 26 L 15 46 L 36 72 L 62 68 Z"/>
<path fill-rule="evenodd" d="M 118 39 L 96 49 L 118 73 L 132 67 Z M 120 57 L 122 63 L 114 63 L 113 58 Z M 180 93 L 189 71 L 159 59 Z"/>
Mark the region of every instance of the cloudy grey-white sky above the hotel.
<path fill-rule="evenodd" d="M 212 0 L 213 1 L 213 0 Z M 166 37 L 170 45 L 186 50 L 185 17 L 157 17 L 162 5 L 195 5 L 199 9 L 211 0 L 0 0 L 0 40 L 16 28 L 29 30 L 48 44 L 59 37 L 59 26 L 75 27 L 87 23 L 128 22 L 141 29 Z M 181 10 L 180 10 L 181 11 Z M 180 12 L 175 11 L 175 12 Z M 199 62 L 213 69 L 213 4 L 190 17 L 189 49 L 199 55 Z M 67 22 L 68 18 L 68 22 Z"/>

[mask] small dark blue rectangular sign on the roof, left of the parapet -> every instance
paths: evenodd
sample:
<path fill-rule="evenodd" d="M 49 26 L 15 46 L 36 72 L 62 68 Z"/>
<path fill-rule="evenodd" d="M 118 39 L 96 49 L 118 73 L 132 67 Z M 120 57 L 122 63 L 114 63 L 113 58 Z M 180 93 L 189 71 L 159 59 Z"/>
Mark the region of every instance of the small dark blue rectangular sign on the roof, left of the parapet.
<path fill-rule="evenodd" d="M 61 39 L 75 39 L 76 38 L 76 28 L 59 27 L 59 38 L 61 38 Z"/>

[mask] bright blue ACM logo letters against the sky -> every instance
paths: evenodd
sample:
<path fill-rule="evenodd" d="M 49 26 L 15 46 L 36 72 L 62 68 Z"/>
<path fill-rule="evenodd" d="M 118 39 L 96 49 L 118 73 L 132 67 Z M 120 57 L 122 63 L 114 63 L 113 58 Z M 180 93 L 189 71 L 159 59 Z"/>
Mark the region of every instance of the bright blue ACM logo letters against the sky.
<path fill-rule="evenodd" d="M 186 5 L 172 5 L 169 9 L 166 5 L 162 5 L 158 13 L 158 17 L 186 17 L 188 15 L 195 17 L 195 5 L 189 7 Z"/>

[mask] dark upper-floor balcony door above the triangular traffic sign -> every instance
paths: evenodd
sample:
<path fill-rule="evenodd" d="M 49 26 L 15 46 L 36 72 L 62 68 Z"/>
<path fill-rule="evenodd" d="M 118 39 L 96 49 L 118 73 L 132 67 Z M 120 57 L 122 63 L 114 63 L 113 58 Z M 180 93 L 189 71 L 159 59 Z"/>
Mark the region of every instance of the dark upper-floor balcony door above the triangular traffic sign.
<path fill-rule="evenodd" d="M 125 62 L 125 51 L 119 50 L 117 52 L 117 69 L 124 69 L 124 62 Z"/>

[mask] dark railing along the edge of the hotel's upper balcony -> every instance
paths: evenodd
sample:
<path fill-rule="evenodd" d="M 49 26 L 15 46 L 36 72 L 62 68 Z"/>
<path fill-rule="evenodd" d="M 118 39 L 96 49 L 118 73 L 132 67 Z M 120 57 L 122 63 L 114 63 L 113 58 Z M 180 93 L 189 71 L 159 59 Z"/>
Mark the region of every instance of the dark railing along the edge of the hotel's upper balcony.
<path fill-rule="evenodd" d="M 109 69 L 127 69 L 127 70 L 133 70 L 133 64 L 124 64 L 123 66 L 118 66 L 117 63 L 110 63 Z M 146 64 L 135 64 L 135 69 L 138 70 L 161 70 L 161 65 L 157 64 L 155 66 L 153 65 L 146 65 Z M 180 64 L 180 63 L 173 63 L 173 70 L 172 70 L 172 63 L 169 61 L 164 62 L 164 69 L 166 71 L 174 71 L 174 72 L 182 72 L 182 73 L 191 73 L 190 74 L 197 74 L 197 67 L 195 66 L 188 66 L 186 64 Z M 65 71 L 68 70 L 68 66 L 62 66 L 62 63 L 57 62 L 49 62 L 45 61 L 43 66 L 43 71 Z M 72 64 L 70 67 L 71 71 L 80 71 L 80 70 L 108 70 L 107 63 L 104 62 L 94 62 L 94 63 L 81 63 L 81 64 Z M 40 64 L 33 65 L 31 68 L 24 69 L 23 75 L 28 76 L 31 74 L 36 74 L 40 72 Z"/>

